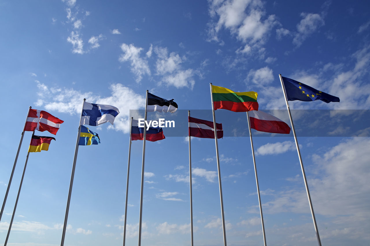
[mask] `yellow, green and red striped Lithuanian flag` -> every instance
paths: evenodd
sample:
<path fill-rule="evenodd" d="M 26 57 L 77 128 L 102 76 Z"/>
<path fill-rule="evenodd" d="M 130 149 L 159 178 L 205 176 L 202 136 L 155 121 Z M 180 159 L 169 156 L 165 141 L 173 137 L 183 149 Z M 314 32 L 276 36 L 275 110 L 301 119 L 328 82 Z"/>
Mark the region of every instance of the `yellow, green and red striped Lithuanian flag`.
<path fill-rule="evenodd" d="M 213 108 L 233 112 L 258 110 L 257 92 L 233 92 L 230 89 L 212 85 Z"/>

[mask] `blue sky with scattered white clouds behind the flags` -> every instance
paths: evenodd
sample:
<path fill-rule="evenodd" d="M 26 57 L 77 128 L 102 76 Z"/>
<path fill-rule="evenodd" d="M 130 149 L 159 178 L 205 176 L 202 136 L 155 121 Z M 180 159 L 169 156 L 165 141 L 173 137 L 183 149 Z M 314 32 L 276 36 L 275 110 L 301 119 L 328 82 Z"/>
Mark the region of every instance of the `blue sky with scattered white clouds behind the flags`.
<path fill-rule="evenodd" d="M 260 109 L 282 109 L 276 116 L 288 122 L 282 74 L 340 98 L 290 102 L 303 109 L 293 120 L 314 123 L 309 130 L 320 122 L 305 121 L 308 109 L 347 109 L 348 118 L 356 118 L 351 110 L 370 107 L 369 16 L 368 1 L 1 1 L 0 100 L 12 111 L 1 124 L 1 197 L 28 107 L 64 120 L 49 151 L 30 154 L 8 245 L 60 245 L 83 98 L 116 106 L 120 114 L 114 126 L 91 127 L 100 145 L 79 149 L 65 245 L 122 245 L 129 110 L 144 109 L 147 89 L 205 120 L 212 120 L 209 83 L 254 90 Z M 233 115 L 247 127 L 245 114 Z M 321 240 L 369 245 L 369 128 L 354 133 L 365 137 L 342 137 L 350 127 L 335 111 L 328 118 L 333 137 L 298 139 Z M 267 243 L 315 245 L 293 137 L 252 134 Z M 0 245 L 30 138 L 26 132 Z M 263 245 L 250 140 L 218 143 L 228 245 Z M 142 142 L 134 141 L 127 245 L 138 242 L 141 157 Z M 145 159 L 142 245 L 189 245 L 186 138 L 147 142 Z M 194 244 L 223 245 L 212 139 L 192 141 L 192 167 Z"/>

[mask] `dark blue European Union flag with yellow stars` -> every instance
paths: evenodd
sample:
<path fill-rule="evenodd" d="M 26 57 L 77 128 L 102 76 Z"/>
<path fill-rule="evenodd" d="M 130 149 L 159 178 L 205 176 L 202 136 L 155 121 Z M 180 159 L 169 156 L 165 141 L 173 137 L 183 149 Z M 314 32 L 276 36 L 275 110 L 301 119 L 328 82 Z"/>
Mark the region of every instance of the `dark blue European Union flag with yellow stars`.
<path fill-rule="evenodd" d="M 293 79 L 289 79 L 283 76 L 282 79 L 288 101 L 300 100 L 308 102 L 314 100 L 322 100 L 326 103 L 339 102 L 339 98 L 336 96 L 332 96 L 320 90 L 316 90 L 311 86 L 305 85 Z"/>

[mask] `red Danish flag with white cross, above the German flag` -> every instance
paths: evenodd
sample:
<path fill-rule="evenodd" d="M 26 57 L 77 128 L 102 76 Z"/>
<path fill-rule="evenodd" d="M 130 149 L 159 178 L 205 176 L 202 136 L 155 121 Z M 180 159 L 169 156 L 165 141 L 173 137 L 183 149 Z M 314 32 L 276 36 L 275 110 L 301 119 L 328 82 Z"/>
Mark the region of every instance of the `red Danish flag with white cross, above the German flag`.
<path fill-rule="evenodd" d="M 55 135 L 63 122 L 63 120 L 50 115 L 44 110 L 30 109 L 24 131 L 48 131 Z"/>

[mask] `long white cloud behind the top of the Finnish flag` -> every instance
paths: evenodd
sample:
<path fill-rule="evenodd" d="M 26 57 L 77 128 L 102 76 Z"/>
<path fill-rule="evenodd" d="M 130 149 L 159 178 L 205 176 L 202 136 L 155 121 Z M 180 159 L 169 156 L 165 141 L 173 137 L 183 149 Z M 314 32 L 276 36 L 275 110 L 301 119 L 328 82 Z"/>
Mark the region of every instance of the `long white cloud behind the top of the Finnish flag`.
<path fill-rule="evenodd" d="M 129 132 L 129 110 L 145 107 L 145 98 L 141 94 L 135 93 L 131 88 L 125 87 L 120 83 L 110 86 L 111 95 L 101 97 L 92 92 L 80 92 L 70 88 L 48 88 L 43 83 L 36 81 L 39 89 L 38 96 L 43 100 L 44 107 L 50 111 L 69 113 L 81 113 L 83 99 L 87 102 L 113 105 L 120 110 L 114 120 L 114 126 L 109 126 L 115 130 Z"/>

